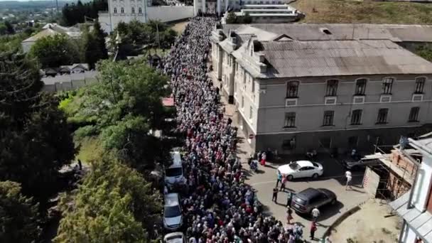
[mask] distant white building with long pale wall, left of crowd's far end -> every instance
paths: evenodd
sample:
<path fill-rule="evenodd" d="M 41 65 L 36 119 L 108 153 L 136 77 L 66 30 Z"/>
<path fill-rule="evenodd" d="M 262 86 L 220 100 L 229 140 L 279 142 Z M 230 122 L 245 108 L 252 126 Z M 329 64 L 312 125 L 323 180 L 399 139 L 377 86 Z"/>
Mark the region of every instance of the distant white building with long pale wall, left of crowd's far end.
<path fill-rule="evenodd" d="M 108 11 L 99 12 L 99 23 L 106 33 L 114 31 L 120 22 L 132 20 L 146 23 L 180 21 L 194 16 L 193 6 L 151 6 L 151 0 L 109 0 Z"/>

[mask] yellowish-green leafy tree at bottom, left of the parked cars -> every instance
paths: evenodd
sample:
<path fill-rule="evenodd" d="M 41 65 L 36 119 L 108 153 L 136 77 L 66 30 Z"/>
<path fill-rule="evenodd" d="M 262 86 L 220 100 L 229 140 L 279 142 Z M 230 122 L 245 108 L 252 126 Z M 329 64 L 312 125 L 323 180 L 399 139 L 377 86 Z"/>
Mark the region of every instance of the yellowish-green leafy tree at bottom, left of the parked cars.
<path fill-rule="evenodd" d="M 62 198 L 63 219 L 54 242 L 148 242 L 161 212 L 161 196 L 139 173 L 104 156 L 92 163 L 72 207 Z"/>

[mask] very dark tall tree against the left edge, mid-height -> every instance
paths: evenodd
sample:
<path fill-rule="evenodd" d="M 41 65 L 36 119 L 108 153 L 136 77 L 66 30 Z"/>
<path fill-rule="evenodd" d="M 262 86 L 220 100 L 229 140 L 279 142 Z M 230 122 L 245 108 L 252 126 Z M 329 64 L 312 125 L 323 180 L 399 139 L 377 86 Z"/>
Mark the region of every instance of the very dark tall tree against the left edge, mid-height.
<path fill-rule="evenodd" d="M 58 170 L 75 153 L 58 99 L 42 86 L 23 55 L 0 55 L 0 180 L 21 183 L 39 202 L 58 189 Z"/>

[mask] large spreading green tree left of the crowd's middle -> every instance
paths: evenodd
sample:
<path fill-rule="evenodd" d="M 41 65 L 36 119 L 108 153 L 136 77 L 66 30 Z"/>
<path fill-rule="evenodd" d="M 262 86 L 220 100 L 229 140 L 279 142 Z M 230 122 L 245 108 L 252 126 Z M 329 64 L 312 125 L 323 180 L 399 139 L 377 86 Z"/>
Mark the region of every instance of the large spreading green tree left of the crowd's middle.
<path fill-rule="evenodd" d="M 69 121 L 84 125 L 75 136 L 100 135 L 104 148 L 114 149 L 140 171 L 165 158 L 166 149 L 149 133 L 163 126 L 161 97 L 169 94 L 168 78 L 141 62 L 102 61 L 99 82 L 65 107 Z"/>

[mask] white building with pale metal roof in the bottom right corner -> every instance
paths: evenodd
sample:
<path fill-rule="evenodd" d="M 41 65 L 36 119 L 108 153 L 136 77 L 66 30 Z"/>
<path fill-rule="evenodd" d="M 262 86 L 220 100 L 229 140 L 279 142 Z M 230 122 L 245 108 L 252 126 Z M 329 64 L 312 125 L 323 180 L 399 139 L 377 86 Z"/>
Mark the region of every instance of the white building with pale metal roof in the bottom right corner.
<path fill-rule="evenodd" d="M 404 219 L 398 242 L 432 242 L 432 139 L 409 139 L 409 145 L 423 158 L 412 189 L 390 203 Z"/>

